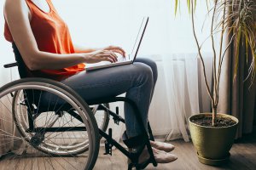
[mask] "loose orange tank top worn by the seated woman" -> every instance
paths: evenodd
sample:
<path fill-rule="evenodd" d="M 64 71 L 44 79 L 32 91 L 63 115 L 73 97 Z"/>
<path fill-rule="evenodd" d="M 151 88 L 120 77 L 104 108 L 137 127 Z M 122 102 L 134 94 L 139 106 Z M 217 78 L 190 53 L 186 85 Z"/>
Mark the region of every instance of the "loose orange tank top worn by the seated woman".
<path fill-rule="evenodd" d="M 38 49 L 53 54 L 73 54 L 73 42 L 66 23 L 61 20 L 51 1 L 46 1 L 49 4 L 49 13 L 45 13 L 38 8 L 31 0 L 26 0 L 27 6 L 30 8 L 32 14 L 30 25 L 38 44 Z M 4 26 L 4 37 L 7 41 L 14 42 L 6 22 Z M 61 77 L 68 77 L 79 71 L 84 71 L 84 66 L 84 64 L 79 64 L 59 70 L 31 71 L 32 74 L 29 75 L 33 75 L 33 77 L 60 79 Z"/>

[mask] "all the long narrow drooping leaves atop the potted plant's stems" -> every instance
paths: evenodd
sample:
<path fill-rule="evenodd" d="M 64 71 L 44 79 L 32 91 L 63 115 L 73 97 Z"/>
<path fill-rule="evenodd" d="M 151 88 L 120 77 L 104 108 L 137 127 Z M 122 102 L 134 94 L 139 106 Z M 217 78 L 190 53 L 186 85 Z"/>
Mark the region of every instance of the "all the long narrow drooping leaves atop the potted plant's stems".
<path fill-rule="evenodd" d="M 236 57 L 236 67 L 234 72 L 234 77 L 236 77 L 238 69 L 239 57 L 246 57 L 247 62 L 248 54 L 253 55 L 253 59 L 250 59 L 250 69 L 249 75 L 251 76 L 251 82 L 256 75 L 256 1 L 255 0 L 214 0 L 217 2 L 213 7 L 210 8 L 210 5 L 213 1 L 203 0 L 207 3 L 207 10 L 209 14 L 213 13 L 213 9 L 216 8 L 215 18 L 218 18 L 217 22 L 214 23 L 215 28 L 213 29 L 214 34 L 216 32 L 226 31 L 230 37 L 235 48 L 235 57 Z M 177 13 L 177 6 L 181 0 L 175 1 L 175 14 Z M 192 7 L 193 4 L 193 7 Z M 189 14 L 191 14 L 191 8 L 196 7 L 196 0 L 187 0 L 187 6 Z M 224 16 L 224 17 L 219 17 Z M 219 18 L 221 18 L 219 20 Z M 212 22 L 215 22 L 215 20 Z M 246 54 L 239 54 L 240 46 L 244 45 L 246 48 Z M 221 59 L 223 54 L 220 54 L 218 57 Z"/>

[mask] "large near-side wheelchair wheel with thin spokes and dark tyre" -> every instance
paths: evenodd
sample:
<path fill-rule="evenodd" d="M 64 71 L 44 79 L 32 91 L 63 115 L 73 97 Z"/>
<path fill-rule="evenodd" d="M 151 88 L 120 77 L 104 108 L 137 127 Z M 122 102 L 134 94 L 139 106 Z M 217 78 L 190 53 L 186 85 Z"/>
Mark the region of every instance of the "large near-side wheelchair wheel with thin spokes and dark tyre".
<path fill-rule="evenodd" d="M 11 161 L 11 169 L 94 167 L 99 151 L 96 120 L 71 88 L 43 78 L 10 82 L 0 88 L 0 108 L 0 140 L 14 145 L 0 165 Z M 13 129 L 7 129 L 8 124 Z"/>

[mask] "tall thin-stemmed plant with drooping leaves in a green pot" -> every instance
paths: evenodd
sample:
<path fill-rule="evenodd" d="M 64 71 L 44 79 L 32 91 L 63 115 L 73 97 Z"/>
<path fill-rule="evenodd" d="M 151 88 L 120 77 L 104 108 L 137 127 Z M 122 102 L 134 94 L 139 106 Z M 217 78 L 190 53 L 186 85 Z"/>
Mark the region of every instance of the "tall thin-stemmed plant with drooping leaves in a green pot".
<path fill-rule="evenodd" d="M 212 90 L 209 87 L 206 77 L 206 68 L 201 53 L 202 44 L 198 41 L 195 33 L 195 4 L 196 0 L 187 0 L 189 12 L 192 20 L 193 33 L 197 45 L 198 56 L 201 59 L 204 82 L 207 87 L 207 94 L 211 98 L 212 113 L 203 113 L 189 117 L 190 134 L 199 161 L 208 165 L 220 165 L 228 160 L 230 148 L 236 137 L 238 120 L 229 113 L 217 113 L 218 107 L 218 89 L 221 75 L 222 64 L 225 53 L 233 44 L 236 49 L 235 57 L 238 62 L 239 57 L 248 57 L 248 53 L 253 55 L 249 74 L 252 78 L 255 75 L 256 68 L 256 26 L 255 13 L 256 4 L 253 0 L 206 0 L 207 3 L 213 3 L 212 8 L 208 9 L 208 17 L 211 19 L 211 32 L 209 38 L 212 41 L 213 62 L 212 62 Z M 177 11 L 176 0 L 175 11 Z M 254 16 L 253 16 L 254 15 Z M 217 19 L 218 18 L 218 19 Z M 213 35 L 220 34 L 219 50 L 216 49 L 216 39 Z M 230 37 L 230 42 L 224 47 L 224 36 Z M 246 46 L 246 54 L 239 55 L 241 43 Z M 218 65 L 217 65 L 218 64 Z M 236 70 L 235 69 L 235 77 Z"/>

